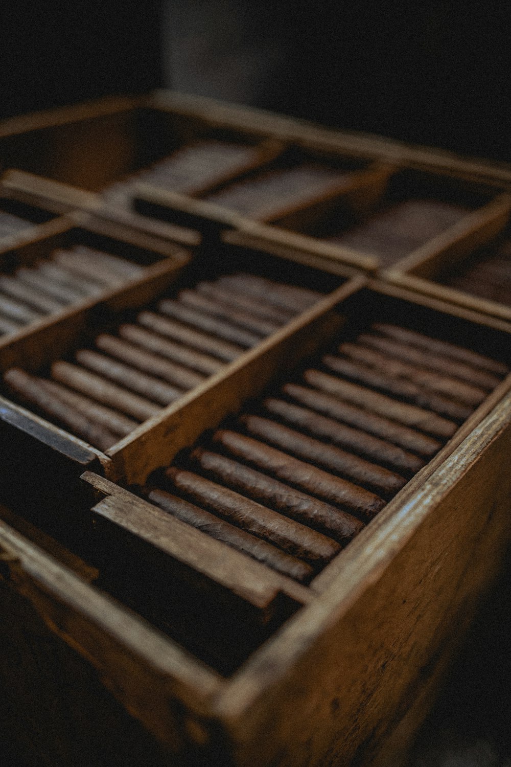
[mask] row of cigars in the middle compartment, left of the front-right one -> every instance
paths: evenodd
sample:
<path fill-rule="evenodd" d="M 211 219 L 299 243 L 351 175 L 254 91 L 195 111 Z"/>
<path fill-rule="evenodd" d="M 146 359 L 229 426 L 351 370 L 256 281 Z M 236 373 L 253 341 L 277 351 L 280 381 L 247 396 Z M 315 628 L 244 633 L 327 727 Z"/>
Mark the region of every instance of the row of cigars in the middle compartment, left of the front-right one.
<path fill-rule="evenodd" d="M 100 449 L 258 344 L 320 297 L 315 291 L 236 273 L 203 281 L 157 311 L 141 311 L 93 348 L 57 360 L 50 377 L 11 368 L 10 393 Z"/>

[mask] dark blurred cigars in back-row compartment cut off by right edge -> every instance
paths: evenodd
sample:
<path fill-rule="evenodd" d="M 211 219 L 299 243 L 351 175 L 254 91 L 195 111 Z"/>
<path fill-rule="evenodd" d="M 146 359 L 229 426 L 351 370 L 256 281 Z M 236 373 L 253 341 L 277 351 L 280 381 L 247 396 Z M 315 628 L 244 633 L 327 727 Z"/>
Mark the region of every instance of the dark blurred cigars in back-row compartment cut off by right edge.
<path fill-rule="evenodd" d="M 511 240 L 478 253 L 444 284 L 511 306 Z"/>

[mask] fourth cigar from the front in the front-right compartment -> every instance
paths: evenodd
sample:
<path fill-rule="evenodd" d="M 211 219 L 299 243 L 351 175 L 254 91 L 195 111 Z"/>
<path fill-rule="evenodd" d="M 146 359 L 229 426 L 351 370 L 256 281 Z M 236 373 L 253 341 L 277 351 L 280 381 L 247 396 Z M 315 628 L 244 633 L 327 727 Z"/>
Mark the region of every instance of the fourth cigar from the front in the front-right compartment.
<path fill-rule="evenodd" d="M 303 492 L 342 506 L 363 522 L 369 522 L 385 506 L 385 501 L 369 490 L 332 476 L 323 469 L 288 456 L 249 436 L 221 429 L 215 432 L 213 441 L 234 458 L 240 458 L 283 482 L 290 482 Z"/>

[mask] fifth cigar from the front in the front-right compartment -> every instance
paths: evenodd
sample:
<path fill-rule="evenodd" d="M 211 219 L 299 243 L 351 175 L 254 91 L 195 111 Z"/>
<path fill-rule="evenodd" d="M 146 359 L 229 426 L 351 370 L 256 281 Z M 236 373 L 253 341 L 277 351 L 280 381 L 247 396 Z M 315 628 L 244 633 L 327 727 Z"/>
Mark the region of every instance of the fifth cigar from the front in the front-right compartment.
<path fill-rule="evenodd" d="M 367 487 L 372 492 L 386 499 L 392 498 L 401 487 L 406 485 L 406 479 L 395 472 L 370 463 L 352 453 L 333 445 L 326 445 L 318 439 L 301 434 L 289 426 L 270 421 L 260 416 L 240 416 L 239 422 L 251 436 L 264 439 L 275 447 L 301 458 L 307 463 L 322 466 L 331 472 L 340 474 L 356 485 Z"/>

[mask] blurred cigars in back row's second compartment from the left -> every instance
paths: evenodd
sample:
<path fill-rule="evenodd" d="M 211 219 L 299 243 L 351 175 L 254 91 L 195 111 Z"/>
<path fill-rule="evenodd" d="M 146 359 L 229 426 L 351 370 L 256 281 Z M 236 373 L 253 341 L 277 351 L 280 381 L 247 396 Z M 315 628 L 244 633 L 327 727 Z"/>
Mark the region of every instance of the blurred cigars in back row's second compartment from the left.
<path fill-rule="evenodd" d="M 348 171 L 335 170 L 319 163 L 302 163 L 258 173 L 205 199 L 245 216 L 270 221 L 287 208 L 312 201 L 333 189 L 340 191 L 348 180 Z"/>

